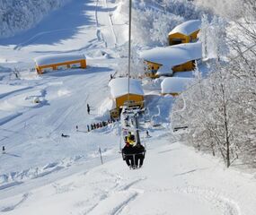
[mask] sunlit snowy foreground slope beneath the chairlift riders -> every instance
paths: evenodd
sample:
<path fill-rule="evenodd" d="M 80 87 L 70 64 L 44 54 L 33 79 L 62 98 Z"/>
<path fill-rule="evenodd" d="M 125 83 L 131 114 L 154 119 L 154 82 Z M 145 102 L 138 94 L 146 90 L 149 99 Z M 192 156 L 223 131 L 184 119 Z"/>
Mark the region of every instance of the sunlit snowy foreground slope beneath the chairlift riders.
<path fill-rule="evenodd" d="M 2 193 L 4 214 L 254 214 L 256 184 L 250 175 L 225 170 L 180 142 L 151 133 L 145 166 L 127 168 L 119 156 L 101 167 L 22 193 Z M 100 159 L 99 159 L 100 161 Z M 82 170 L 83 169 L 83 170 Z"/>

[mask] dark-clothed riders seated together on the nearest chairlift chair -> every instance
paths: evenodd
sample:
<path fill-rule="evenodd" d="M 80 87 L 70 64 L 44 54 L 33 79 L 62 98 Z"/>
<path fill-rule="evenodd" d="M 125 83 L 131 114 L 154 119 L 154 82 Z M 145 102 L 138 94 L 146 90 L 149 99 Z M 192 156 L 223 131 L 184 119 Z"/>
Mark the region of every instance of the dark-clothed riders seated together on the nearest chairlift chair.
<path fill-rule="evenodd" d="M 135 135 L 128 132 L 125 138 L 126 145 L 122 149 L 123 159 L 129 168 L 141 168 L 145 158 L 145 147 L 136 142 Z"/>

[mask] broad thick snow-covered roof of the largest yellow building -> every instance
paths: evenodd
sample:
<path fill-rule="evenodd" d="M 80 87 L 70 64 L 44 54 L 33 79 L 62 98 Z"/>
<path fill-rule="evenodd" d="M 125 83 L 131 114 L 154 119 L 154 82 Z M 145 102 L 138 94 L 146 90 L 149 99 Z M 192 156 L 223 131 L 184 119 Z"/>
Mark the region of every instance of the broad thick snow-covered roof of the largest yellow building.
<path fill-rule="evenodd" d="M 202 44 L 196 42 L 170 47 L 154 47 L 142 52 L 141 57 L 146 61 L 162 64 L 171 69 L 175 65 L 202 58 Z"/>

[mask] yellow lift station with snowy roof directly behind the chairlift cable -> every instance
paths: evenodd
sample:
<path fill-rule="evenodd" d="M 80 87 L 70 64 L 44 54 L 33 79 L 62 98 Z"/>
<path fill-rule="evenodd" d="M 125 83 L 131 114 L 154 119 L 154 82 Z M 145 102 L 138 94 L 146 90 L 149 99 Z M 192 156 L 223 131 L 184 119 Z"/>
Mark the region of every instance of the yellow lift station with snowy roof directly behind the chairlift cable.
<path fill-rule="evenodd" d="M 144 91 L 141 82 L 128 78 L 112 79 L 109 83 L 111 99 L 115 102 L 114 109 L 110 110 L 111 116 L 119 116 L 121 108 L 125 105 L 129 107 L 144 107 Z"/>

